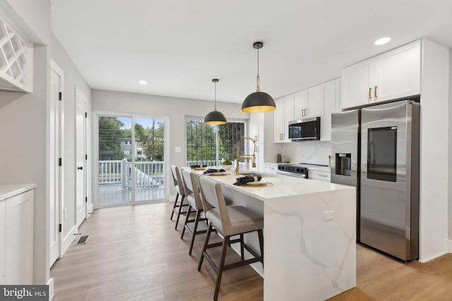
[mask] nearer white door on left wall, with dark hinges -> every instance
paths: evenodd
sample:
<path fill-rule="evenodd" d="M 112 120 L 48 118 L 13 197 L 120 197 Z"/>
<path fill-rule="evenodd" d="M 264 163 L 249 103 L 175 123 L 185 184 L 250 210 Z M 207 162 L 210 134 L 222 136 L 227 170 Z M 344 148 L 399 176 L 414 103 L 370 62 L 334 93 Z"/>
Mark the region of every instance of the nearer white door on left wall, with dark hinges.
<path fill-rule="evenodd" d="M 49 267 L 61 256 L 62 166 L 59 164 L 62 145 L 62 92 L 63 71 L 52 61 L 50 74 L 50 135 L 49 135 Z"/>

